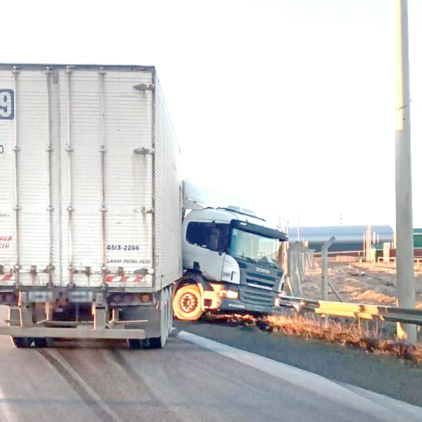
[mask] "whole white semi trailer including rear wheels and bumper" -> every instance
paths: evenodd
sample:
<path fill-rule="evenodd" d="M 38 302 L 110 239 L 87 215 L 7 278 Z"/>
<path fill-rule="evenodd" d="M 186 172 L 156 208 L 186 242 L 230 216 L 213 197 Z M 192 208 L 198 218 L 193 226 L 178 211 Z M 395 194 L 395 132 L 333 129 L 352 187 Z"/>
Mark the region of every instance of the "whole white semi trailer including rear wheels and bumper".
<path fill-rule="evenodd" d="M 154 67 L 0 65 L 0 334 L 164 346 L 178 155 Z"/>

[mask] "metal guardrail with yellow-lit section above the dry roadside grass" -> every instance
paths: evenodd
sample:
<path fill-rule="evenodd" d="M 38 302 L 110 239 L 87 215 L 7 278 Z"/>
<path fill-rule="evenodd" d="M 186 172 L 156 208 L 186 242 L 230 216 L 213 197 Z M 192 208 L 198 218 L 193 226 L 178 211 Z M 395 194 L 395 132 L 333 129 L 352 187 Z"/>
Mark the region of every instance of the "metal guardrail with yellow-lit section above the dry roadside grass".
<path fill-rule="evenodd" d="M 331 302 L 328 300 L 305 299 L 303 297 L 280 296 L 282 306 L 313 310 L 320 315 L 346 316 L 355 319 L 391 321 L 422 325 L 422 309 L 404 309 L 396 306 L 374 304 Z"/>

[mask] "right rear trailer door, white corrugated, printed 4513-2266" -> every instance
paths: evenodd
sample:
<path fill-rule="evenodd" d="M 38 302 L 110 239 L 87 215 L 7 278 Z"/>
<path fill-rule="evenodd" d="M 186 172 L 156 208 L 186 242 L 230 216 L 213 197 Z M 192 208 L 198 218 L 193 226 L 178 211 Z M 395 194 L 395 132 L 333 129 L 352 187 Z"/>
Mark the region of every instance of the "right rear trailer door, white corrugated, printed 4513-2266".
<path fill-rule="evenodd" d="M 152 92 L 135 88 L 151 82 L 151 71 L 59 71 L 66 284 L 152 287 L 151 273 L 135 273 L 152 270 L 152 216 L 142 212 L 152 156 L 134 154 L 152 148 Z"/>

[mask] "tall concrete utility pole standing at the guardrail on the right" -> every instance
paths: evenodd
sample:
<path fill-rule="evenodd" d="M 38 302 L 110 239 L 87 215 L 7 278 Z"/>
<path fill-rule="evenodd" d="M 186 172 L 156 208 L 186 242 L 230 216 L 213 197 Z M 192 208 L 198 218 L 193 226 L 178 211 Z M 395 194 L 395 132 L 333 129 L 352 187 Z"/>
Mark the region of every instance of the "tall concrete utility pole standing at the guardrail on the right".
<path fill-rule="evenodd" d="M 414 308 L 412 174 L 407 0 L 396 0 L 397 108 L 395 132 L 398 306 Z M 397 323 L 397 337 L 416 342 L 416 327 Z"/>

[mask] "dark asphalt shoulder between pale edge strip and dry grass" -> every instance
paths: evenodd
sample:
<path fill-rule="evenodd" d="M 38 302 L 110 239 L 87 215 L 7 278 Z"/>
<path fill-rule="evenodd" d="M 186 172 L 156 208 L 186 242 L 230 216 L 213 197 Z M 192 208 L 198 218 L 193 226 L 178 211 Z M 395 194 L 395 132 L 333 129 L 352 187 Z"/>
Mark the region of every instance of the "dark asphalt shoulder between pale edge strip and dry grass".
<path fill-rule="evenodd" d="M 411 361 L 206 319 L 195 323 L 175 321 L 174 325 L 180 330 L 319 374 L 336 382 L 352 384 L 422 406 L 422 367 L 415 368 Z"/>

